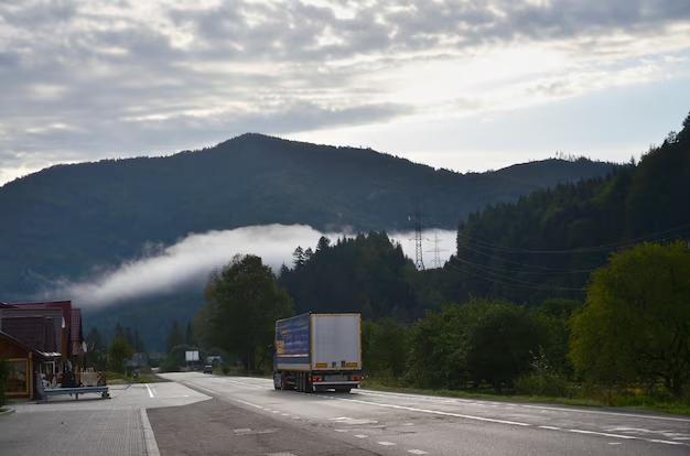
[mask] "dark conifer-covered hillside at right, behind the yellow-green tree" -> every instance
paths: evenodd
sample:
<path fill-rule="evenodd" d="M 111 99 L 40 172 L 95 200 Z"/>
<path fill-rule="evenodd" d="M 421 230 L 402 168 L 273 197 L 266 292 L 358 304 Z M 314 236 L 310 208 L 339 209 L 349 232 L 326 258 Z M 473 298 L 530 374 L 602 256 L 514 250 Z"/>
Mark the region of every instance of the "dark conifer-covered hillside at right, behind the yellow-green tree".
<path fill-rule="evenodd" d="M 690 241 L 690 116 L 636 166 L 471 214 L 446 264 L 453 293 L 582 298 L 592 270 L 643 240 Z"/>

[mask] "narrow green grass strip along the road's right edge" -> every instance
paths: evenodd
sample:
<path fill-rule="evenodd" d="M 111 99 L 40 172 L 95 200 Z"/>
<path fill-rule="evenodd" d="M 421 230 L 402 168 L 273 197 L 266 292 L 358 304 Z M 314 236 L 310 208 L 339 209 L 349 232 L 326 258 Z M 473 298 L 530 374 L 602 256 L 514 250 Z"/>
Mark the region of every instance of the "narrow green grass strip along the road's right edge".
<path fill-rule="evenodd" d="M 690 415 L 690 405 L 682 403 L 669 403 L 655 400 L 647 397 L 634 398 L 615 398 L 612 401 L 601 401 L 596 399 L 575 399 L 575 398 L 547 398 L 530 395 L 507 395 L 490 393 L 474 393 L 468 391 L 450 391 L 450 390 L 428 390 L 418 388 L 391 387 L 375 380 L 365 380 L 362 388 L 367 390 L 377 390 L 386 392 L 414 393 L 442 398 L 460 398 L 460 399 L 477 399 L 490 401 L 510 401 L 539 404 L 557 404 L 557 405 L 579 405 L 589 408 L 616 408 L 625 411 L 650 411 L 659 413 L 669 413 L 678 415 Z"/>

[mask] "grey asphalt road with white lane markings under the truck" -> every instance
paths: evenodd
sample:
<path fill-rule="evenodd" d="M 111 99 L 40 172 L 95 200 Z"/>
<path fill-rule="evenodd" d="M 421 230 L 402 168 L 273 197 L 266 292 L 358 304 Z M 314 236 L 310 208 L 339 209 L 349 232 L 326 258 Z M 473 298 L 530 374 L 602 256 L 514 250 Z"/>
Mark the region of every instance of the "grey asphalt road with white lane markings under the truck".
<path fill-rule="evenodd" d="M 276 391 L 271 380 L 198 372 L 162 377 L 215 398 L 149 410 L 162 455 L 219 454 L 227 445 L 231 454 L 280 456 L 690 455 L 690 419 L 682 416 L 370 390 L 304 394 Z M 185 411 L 187 423 L 206 424 L 185 430 L 175 419 Z M 187 435 L 218 445 L 195 446 Z"/>

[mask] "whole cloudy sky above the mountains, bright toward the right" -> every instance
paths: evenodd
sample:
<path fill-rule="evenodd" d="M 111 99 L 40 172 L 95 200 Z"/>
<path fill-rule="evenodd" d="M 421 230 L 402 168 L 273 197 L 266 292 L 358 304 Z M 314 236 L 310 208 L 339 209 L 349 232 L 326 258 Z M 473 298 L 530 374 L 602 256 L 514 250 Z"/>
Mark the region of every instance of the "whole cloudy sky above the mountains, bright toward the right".
<path fill-rule="evenodd" d="M 690 111 L 688 36 L 687 0 L 0 0 L 0 185 L 245 132 L 627 161 Z"/>

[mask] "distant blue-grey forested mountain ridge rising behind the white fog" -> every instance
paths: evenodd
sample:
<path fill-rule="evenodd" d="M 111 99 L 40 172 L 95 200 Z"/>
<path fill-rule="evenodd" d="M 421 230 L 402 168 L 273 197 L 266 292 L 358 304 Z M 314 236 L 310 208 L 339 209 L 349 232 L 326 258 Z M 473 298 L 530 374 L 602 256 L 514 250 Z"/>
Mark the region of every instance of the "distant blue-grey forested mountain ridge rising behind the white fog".
<path fill-rule="evenodd" d="M 6 301 L 23 298 L 45 281 L 117 265 L 145 242 L 171 245 L 190 232 L 266 224 L 409 229 L 417 199 L 459 220 L 614 167 L 547 160 L 463 175 L 260 134 L 164 158 L 57 165 L 0 187 L 0 290 Z"/>

